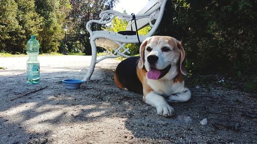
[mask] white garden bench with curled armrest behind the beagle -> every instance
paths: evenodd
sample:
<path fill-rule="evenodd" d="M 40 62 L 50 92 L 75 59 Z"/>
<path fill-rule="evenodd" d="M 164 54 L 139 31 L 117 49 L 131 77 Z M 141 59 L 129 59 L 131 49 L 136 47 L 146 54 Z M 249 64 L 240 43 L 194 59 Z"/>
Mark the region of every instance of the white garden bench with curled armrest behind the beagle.
<path fill-rule="evenodd" d="M 146 37 L 150 37 L 154 34 L 156 29 L 158 28 L 161 18 L 164 12 L 164 8 L 166 5 L 167 0 L 151 0 L 145 7 L 143 7 L 142 10 L 140 10 L 136 14 L 136 23 L 137 28 L 142 29 L 145 26 L 150 25 L 152 29 L 149 31 L 146 35 L 139 35 L 140 42 L 143 42 L 143 40 Z M 105 59 L 105 58 L 116 58 L 119 56 L 129 57 L 127 54 L 130 54 L 130 51 L 128 48 L 125 48 L 124 46 L 126 44 L 133 44 L 138 43 L 137 35 L 122 35 L 116 32 L 110 32 L 110 31 L 91 31 L 90 25 L 92 23 L 97 24 L 109 24 L 116 16 L 119 18 L 126 20 L 128 22 L 127 24 L 127 30 L 131 30 L 131 25 L 133 30 L 135 30 L 135 24 L 132 20 L 132 15 L 123 14 L 118 11 L 114 10 L 106 10 L 100 13 L 101 19 L 99 20 L 90 20 L 86 24 L 86 30 L 90 33 L 90 45 L 92 49 L 92 57 L 91 57 L 91 63 L 88 68 L 87 74 L 83 78 L 83 80 L 89 80 L 91 75 L 94 72 L 95 65 Z M 110 53 L 110 55 L 107 55 L 105 57 L 97 58 L 97 47 L 102 47 L 106 49 Z M 112 52 L 113 50 L 113 52 Z"/>

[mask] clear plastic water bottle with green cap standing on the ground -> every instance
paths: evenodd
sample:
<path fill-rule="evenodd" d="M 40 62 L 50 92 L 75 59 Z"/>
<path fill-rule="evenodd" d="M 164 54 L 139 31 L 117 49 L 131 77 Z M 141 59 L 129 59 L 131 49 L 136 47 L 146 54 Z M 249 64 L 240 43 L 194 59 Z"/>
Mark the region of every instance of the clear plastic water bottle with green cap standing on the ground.
<path fill-rule="evenodd" d="M 39 67 L 39 42 L 35 39 L 34 35 L 31 35 L 27 42 L 27 54 L 29 59 L 27 61 L 27 83 L 38 84 L 40 79 L 40 67 Z"/>

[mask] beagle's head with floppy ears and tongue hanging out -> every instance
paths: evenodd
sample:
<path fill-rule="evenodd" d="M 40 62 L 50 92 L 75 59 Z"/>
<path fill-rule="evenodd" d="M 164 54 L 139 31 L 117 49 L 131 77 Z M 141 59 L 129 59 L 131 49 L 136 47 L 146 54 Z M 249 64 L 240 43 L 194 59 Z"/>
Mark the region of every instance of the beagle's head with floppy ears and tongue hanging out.
<path fill-rule="evenodd" d="M 160 79 L 174 68 L 187 75 L 184 60 L 185 50 L 179 40 L 170 36 L 152 36 L 140 46 L 138 67 L 145 67 L 149 79 Z"/>

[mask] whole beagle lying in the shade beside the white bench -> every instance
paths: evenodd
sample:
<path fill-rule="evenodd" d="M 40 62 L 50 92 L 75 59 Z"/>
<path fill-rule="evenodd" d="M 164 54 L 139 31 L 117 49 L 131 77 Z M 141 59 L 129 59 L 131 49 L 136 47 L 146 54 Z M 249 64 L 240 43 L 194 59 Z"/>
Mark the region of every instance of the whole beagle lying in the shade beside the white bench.
<path fill-rule="evenodd" d="M 173 116 L 168 102 L 185 102 L 191 92 L 183 75 L 185 51 L 181 42 L 170 36 L 152 36 L 140 46 L 140 56 L 129 57 L 117 66 L 114 80 L 120 88 L 143 94 L 143 100 L 157 109 L 157 114 Z"/>

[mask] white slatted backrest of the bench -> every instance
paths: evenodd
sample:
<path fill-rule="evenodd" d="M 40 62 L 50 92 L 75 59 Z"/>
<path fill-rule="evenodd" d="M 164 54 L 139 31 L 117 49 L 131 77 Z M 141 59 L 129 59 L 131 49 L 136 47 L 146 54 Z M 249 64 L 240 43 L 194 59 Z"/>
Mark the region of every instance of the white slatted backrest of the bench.
<path fill-rule="evenodd" d="M 151 18 L 151 23 L 153 23 L 154 25 L 157 22 L 157 19 L 162 18 L 163 15 L 163 11 L 165 8 L 167 0 L 151 0 L 145 7 L 143 7 L 137 14 L 136 14 L 136 19 L 137 19 L 137 15 L 142 15 L 142 14 L 146 14 L 149 13 L 149 17 L 144 17 L 144 18 L 140 18 L 137 19 L 137 28 L 142 29 L 143 27 L 150 25 L 150 18 L 151 16 L 153 16 Z M 131 30 L 131 25 L 133 30 L 136 29 L 135 27 L 135 22 L 133 20 L 133 22 L 131 22 L 131 20 L 128 22 L 126 30 Z M 159 23 L 157 24 L 159 25 Z M 157 26 L 158 27 L 158 26 Z"/>

